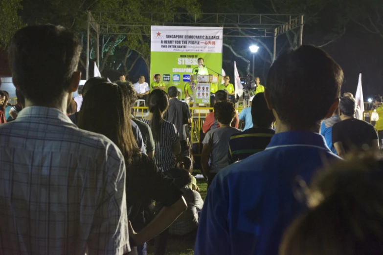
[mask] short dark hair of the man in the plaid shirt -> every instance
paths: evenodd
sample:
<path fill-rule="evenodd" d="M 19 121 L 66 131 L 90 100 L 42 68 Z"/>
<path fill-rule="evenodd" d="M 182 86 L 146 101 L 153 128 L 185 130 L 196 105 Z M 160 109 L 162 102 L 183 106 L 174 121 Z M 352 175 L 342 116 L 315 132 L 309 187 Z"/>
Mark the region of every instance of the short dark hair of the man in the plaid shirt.
<path fill-rule="evenodd" d="M 57 102 L 68 90 L 81 49 L 78 37 L 65 27 L 24 27 L 15 33 L 8 48 L 12 76 L 34 104 Z"/>

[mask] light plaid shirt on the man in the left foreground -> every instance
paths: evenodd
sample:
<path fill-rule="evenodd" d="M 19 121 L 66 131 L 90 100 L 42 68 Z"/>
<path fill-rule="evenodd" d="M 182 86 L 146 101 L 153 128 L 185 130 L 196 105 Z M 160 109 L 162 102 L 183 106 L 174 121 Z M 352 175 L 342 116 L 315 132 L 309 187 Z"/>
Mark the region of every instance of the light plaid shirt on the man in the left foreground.
<path fill-rule="evenodd" d="M 0 254 L 130 251 L 125 164 L 105 136 L 55 108 L 0 125 Z"/>

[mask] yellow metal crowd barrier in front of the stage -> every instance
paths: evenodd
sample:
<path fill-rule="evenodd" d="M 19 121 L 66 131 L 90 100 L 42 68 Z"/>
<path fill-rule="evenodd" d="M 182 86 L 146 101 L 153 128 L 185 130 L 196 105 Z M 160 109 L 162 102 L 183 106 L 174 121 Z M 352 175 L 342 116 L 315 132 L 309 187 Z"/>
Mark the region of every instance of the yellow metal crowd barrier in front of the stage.
<path fill-rule="evenodd" d="M 146 106 L 135 106 L 134 109 L 134 116 L 137 119 L 140 119 L 148 114 L 149 108 Z M 196 145 L 198 149 L 198 153 L 194 153 L 194 156 L 199 156 L 202 147 L 201 147 L 201 134 L 202 134 L 202 127 L 203 122 L 207 116 L 208 113 L 213 111 L 213 107 L 190 107 L 190 110 L 192 112 L 192 122 L 191 122 L 191 143 L 192 145 Z M 235 111 L 239 115 L 243 108 L 236 108 Z"/>

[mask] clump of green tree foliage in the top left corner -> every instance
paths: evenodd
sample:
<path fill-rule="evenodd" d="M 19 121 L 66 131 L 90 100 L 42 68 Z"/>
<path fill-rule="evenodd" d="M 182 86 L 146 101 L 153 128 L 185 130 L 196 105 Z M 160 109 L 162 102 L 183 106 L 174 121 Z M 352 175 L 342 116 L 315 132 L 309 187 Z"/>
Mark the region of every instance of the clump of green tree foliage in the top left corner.
<path fill-rule="evenodd" d="M 5 49 L 15 31 L 23 27 L 18 10 L 22 8 L 21 0 L 0 1 L 0 48 Z"/>

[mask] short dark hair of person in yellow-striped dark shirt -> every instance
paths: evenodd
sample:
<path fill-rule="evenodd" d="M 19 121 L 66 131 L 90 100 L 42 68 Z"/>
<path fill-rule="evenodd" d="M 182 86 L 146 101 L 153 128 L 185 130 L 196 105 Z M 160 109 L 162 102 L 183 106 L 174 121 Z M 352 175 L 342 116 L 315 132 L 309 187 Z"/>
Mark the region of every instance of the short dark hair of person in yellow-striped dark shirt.
<path fill-rule="evenodd" d="M 275 121 L 272 110 L 267 107 L 264 93 L 258 93 L 251 101 L 251 118 L 254 127 L 270 127 Z"/>

